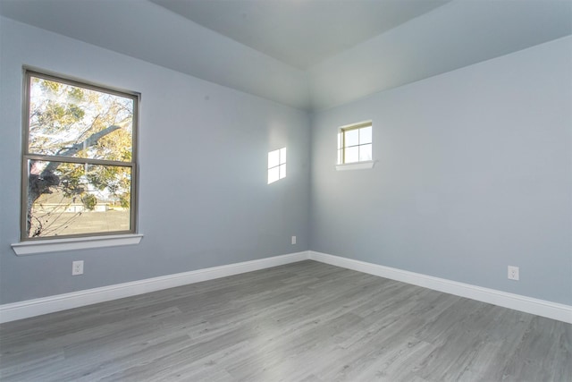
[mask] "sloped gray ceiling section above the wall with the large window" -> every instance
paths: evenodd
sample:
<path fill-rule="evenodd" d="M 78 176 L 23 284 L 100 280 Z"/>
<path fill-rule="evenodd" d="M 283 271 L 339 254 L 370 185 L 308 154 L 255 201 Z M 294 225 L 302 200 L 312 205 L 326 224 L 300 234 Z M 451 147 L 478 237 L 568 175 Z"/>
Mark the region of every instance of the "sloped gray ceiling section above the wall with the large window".
<path fill-rule="evenodd" d="M 306 72 L 151 2 L 2 1 L 0 13 L 285 105 L 309 103 Z"/>

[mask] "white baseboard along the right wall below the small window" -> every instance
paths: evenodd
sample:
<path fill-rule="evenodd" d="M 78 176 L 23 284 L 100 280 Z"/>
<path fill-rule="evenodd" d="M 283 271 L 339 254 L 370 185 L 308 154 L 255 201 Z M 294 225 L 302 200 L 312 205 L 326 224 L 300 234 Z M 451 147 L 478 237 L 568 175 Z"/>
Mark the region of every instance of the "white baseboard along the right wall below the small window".
<path fill-rule="evenodd" d="M 426 276 L 393 267 L 384 267 L 365 261 L 341 258 L 313 250 L 309 250 L 308 255 L 309 259 L 336 267 L 345 267 L 358 272 L 419 285 L 435 291 L 455 294 L 472 300 L 483 301 L 513 310 L 520 310 L 537 316 L 558 319 L 559 321 L 572 324 L 572 306 L 570 305 L 534 299 L 520 294 L 501 292 L 471 284 L 458 283 L 444 278 Z"/>

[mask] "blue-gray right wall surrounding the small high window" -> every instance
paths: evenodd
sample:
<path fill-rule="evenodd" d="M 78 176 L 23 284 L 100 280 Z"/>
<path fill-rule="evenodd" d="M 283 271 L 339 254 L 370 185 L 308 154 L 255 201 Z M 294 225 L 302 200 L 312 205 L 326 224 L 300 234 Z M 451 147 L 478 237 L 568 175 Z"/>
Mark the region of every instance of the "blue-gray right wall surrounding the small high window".
<path fill-rule="evenodd" d="M 374 168 L 336 172 L 337 128 L 369 119 Z M 312 124 L 311 250 L 572 303 L 572 37 Z"/>

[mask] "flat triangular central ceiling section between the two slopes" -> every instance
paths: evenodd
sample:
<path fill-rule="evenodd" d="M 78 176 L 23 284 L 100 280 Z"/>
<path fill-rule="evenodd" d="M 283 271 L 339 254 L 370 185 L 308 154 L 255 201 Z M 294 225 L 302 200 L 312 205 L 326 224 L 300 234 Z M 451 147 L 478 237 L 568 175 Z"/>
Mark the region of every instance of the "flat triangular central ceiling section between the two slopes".
<path fill-rule="evenodd" d="M 299 69 L 450 0 L 150 0 Z"/>

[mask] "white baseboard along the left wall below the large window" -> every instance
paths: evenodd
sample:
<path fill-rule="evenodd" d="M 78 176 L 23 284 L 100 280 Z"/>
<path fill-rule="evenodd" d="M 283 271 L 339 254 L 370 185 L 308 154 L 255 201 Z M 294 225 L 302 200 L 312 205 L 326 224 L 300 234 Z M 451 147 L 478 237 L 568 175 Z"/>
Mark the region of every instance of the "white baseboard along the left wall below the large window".
<path fill-rule="evenodd" d="M 238 275 L 254 270 L 276 267 L 307 259 L 307 251 L 272 258 L 245 261 L 221 267 L 209 267 L 174 275 L 147 278 L 130 283 L 114 284 L 85 291 L 57 294 L 39 299 L 0 305 L 0 323 L 30 318 L 60 310 L 80 308 L 97 302 L 111 301 L 138 294 L 156 292 L 219 277 Z"/>

